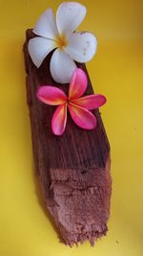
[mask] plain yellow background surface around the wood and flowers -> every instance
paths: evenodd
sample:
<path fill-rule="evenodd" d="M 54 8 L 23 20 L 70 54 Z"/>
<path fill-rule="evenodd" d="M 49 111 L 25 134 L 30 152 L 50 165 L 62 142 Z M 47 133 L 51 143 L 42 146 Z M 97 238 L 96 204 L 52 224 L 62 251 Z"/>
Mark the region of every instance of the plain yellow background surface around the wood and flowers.
<path fill-rule="evenodd" d="M 48 7 L 60 1 L 0 0 L 0 256 L 143 255 L 143 1 L 80 1 L 80 26 L 98 38 L 88 63 L 112 147 L 112 208 L 107 237 L 94 247 L 60 244 L 39 201 L 26 104 L 22 46 Z"/>

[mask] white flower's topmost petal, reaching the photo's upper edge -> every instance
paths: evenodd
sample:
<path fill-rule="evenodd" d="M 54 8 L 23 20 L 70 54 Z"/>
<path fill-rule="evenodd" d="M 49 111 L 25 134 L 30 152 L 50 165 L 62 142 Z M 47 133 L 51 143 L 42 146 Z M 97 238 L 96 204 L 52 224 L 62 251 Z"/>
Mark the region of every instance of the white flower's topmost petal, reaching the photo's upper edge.
<path fill-rule="evenodd" d="M 60 35 L 70 35 L 86 15 L 86 8 L 75 2 L 62 3 L 56 12 L 56 25 Z"/>

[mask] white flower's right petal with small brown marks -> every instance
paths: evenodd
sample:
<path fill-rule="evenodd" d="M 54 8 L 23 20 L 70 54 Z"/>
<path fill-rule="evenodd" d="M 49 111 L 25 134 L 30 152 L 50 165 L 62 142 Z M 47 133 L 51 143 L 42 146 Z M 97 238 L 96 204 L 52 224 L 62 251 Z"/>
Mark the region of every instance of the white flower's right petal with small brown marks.
<path fill-rule="evenodd" d="M 83 63 L 92 59 L 96 52 L 96 48 L 97 40 L 94 35 L 88 32 L 79 32 L 70 35 L 66 51 L 72 59 Z"/>

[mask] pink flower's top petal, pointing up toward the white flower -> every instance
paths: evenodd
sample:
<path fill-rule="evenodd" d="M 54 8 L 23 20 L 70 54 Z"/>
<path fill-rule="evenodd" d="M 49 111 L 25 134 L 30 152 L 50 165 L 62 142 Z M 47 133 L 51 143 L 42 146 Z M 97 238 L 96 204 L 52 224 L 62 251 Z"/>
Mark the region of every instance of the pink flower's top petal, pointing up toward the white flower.
<path fill-rule="evenodd" d="M 77 68 L 72 74 L 69 88 L 69 99 L 77 99 L 82 96 L 87 88 L 88 79 L 85 72 Z"/>

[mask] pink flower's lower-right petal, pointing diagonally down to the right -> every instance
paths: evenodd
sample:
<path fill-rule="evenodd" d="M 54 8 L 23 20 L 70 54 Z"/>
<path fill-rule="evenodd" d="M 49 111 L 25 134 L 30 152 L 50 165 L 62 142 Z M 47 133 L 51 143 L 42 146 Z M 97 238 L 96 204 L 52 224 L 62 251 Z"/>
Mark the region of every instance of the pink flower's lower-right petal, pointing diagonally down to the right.
<path fill-rule="evenodd" d="M 96 127 L 96 118 L 86 108 L 69 104 L 69 110 L 74 123 L 80 128 L 92 129 Z"/>

